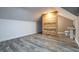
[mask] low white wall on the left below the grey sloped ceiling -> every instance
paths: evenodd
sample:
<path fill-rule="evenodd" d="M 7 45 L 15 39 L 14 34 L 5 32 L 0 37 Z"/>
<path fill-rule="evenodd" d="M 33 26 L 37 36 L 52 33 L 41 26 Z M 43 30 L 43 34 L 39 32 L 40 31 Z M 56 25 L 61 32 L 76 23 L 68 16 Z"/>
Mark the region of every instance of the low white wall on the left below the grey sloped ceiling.
<path fill-rule="evenodd" d="M 0 19 L 0 41 L 36 33 L 34 21 Z"/>

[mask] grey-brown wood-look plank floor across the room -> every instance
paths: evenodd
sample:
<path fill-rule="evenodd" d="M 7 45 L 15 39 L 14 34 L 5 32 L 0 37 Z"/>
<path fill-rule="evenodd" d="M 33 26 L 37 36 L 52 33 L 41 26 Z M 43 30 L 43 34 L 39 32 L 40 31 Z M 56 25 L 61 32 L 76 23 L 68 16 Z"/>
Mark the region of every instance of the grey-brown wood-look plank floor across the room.
<path fill-rule="evenodd" d="M 63 35 L 34 34 L 0 42 L 0 52 L 79 52 L 79 48 Z"/>

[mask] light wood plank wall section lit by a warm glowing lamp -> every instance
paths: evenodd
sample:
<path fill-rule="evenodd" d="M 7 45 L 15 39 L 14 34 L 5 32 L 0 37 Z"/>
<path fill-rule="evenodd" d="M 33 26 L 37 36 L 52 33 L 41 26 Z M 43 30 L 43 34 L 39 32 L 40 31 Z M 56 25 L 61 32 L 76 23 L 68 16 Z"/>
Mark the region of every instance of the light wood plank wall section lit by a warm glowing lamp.
<path fill-rule="evenodd" d="M 42 34 L 57 35 L 58 15 L 57 11 L 42 15 Z"/>

